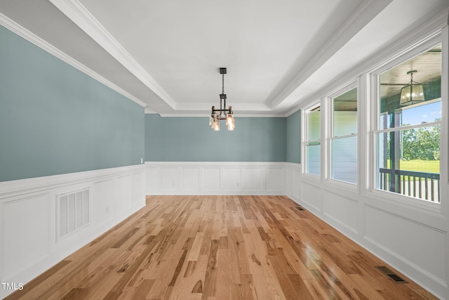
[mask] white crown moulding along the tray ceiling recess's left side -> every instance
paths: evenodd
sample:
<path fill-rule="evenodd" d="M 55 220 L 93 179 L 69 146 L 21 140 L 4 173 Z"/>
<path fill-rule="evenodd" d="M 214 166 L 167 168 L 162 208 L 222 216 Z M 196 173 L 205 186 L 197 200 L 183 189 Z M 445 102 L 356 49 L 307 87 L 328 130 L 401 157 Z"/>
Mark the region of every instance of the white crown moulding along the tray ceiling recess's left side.
<path fill-rule="evenodd" d="M 147 71 L 119 44 L 112 34 L 78 0 L 50 0 L 67 18 L 72 20 L 89 37 L 115 58 L 123 67 L 134 74 L 145 86 L 154 91 L 173 110 L 177 110 L 175 100 L 151 77 Z"/>

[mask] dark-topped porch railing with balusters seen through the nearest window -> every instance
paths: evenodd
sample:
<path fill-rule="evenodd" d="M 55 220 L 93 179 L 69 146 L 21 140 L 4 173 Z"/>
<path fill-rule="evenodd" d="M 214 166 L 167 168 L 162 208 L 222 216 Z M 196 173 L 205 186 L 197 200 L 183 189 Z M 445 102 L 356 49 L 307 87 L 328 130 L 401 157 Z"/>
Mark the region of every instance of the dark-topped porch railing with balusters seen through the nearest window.
<path fill-rule="evenodd" d="M 440 202 L 440 174 L 394 169 L 379 169 L 380 189 Z"/>

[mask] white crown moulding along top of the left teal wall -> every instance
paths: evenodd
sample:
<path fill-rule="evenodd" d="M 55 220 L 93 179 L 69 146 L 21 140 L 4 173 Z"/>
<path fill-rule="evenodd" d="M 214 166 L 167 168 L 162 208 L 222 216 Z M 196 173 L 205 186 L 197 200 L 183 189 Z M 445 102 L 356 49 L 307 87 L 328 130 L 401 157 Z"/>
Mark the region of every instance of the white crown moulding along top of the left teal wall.
<path fill-rule="evenodd" d="M 145 107 L 147 106 L 147 103 L 144 103 L 142 100 L 135 98 L 135 96 L 131 95 L 127 91 L 121 89 L 121 87 L 117 86 L 116 84 L 112 83 L 111 81 L 107 80 L 105 77 L 102 77 L 97 72 L 94 72 L 93 70 L 86 67 L 86 65 L 83 65 L 82 63 L 79 63 L 78 60 L 75 60 L 71 56 L 68 56 L 66 53 L 60 51 L 55 46 L 49 44 L 47 41 L 44 41 L 40 37 L 36 36 L 36 34 L 30 32 L 26 28 L 20 26 L 18 23 L 14 22 L 10 18 L 6 17 L 6 15 L 0 13 L 0 25 L 5 27 L 8 30 L 11 30 L 15 34 L 18 34 L 20 37 L 26 39 L 30 43 L 38 46 L 39 48 L 43 49 L 43 51 L 46 51 L 50 53 L 52 56 L 55 56 L 56 58 L 59 58 L 63 62 L 71 65 L 72 67 L 76 68 L 77 70 L 80 70 L 84 74 L 92 77 L 93 79 L 99 81 L 102 84 L 105 84 L 105 86 L 109 87 L 110 89 L 113 89 L 117 93 L 120 93 L 122 96 L 125 96 L 129 100 L 132 100 L 133 102 L 137 103 L 138 105 Z"/>

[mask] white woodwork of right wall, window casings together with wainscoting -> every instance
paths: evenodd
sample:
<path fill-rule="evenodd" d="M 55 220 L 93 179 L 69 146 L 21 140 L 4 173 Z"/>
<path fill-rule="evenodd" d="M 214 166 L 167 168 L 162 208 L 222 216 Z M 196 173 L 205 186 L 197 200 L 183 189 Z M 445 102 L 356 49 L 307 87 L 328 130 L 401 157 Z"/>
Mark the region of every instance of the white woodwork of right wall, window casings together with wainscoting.
<path fill-rule="evenodd" d="M 328 181 L 320 181 L 320 178 L 324 176 L 312 178 L 307 174 L 301 174 L 300 180 L 295 182 L 300 185 L 300 197 L 291 197 L 309 209 L 311 213 L 329 223 L 330 226 L 337 228 L 351 240 L 361 244 L 362 247 L 373 252 L 380 259 L 400 270 L 408 278 L 441 299 L 449 299 L 448 11 L 445 9 L 425 22 L 423 22 L 424 19 L 419 20 L 420 22 L 417 22 L 413 31 L 347 74 L 342 74 L 326 89 L 321 89 L 302 101 L 300 108 L 302 109 L 302 137 L 304 139 L 307 129 L 307 118 L 304 116 L 309 105 L 316 103 L 317 99 L 326 99 L 326 95 L 333 93 L 339 86 L 347 84 L 351 78 L 351 80 L 358 79 L 358 101 L 363 114 L 360 115 L 358 121 L 358 136 L 360 137 L 358 188 L 351 190 L 337 182 L 330 184 Z M 443 42 L 443 49 L 446 50 L 443 51 L 441 75 L 443 112 L 441 136 L 446 137 L 441 139 L 441 204 L 374 190 L 372 176 L 373 166 L 375 166 L 373 131 L 377 121 L 375 118 L 377 105 L 373 100 L 377 98 L 376 91 L 371 89 L 377 86 L 377 82 L 373 74 L 378 74 L 382 70 L 387 70 L 407 58 L 425 51 L 437 39 Z M 324 106 L 326 106 L 326 101 L 321 103 L 323 110 L 326 110 Z M 322 129 L 323 133 L 326 127 L 323 126 Z M 323 136 L 321 136 L 321 140 L 323 140 Z M 302 161 L 305 162 L 304 143 L 302 143 L 302 150 Z M 287 195 L 290 197 L 290 194 Z M 342 195 L 353 201 L 342 204 L 341 207 L 333 206 L 333 210 L 323 209 L 326 204 L 333 201 L 330 199 L 333 198 L 332 196 L 341 197 Z M 353 204 L 356 205 L 356 209 Z M 351 211 L 351 215 L 347 214 L 348 211 Z M 382 214 L 381 217 L 379 212 Z M 354 214 L 358 214 L 355 219 Z M 382 217 L 385 220 L 382 220 Z M 388 222 L 388 226 L 382 227 L 382 224 L 386 222 Z M 422 251 L 423 243 L 428 245 L 429 249 L 435 247 L 438 250 L 427 256 Z M 416 244 L 416 247 L 413 244 Z"/>

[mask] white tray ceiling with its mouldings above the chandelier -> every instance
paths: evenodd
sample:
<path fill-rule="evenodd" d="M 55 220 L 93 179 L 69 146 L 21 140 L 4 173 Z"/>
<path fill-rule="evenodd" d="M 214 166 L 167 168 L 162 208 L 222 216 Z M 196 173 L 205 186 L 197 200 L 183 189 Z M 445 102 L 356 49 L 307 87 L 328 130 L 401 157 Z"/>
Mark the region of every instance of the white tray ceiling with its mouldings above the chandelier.
<path fill-rule="evenodd" d="M 1 0 L 0 17 L 161 115 L 285 116 L 448 0 Z M 421 20 L 421 21 L 420 21 Z M 1 24 L 1 22 L 0 22 Z"/>

